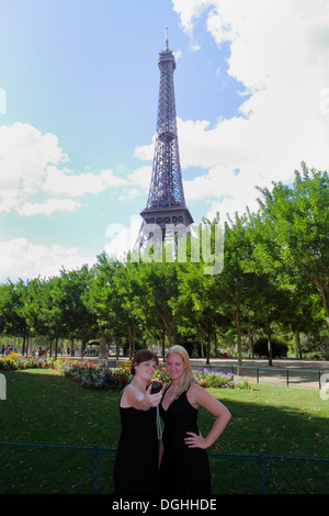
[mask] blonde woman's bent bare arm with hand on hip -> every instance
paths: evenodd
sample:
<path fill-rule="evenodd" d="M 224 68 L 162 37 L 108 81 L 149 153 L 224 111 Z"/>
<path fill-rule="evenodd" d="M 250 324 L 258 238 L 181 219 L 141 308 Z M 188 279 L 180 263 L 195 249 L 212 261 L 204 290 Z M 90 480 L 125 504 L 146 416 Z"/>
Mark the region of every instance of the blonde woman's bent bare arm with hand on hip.
<path fill-rule="evenodd" d="M 201 434 L 197 436 L 192 431 L 188 431 L 185 444 L 189 446 L 189 448 L 208 448 L 223 434 L 229 419 L 231 418 L 231 414 L 228 408 L 223 405 L 223 403 L 212 396 L 200 385 L 191 385 L 188 397 L 192 406 L 195 408 L 197 408 L 200 405 L 203 406 L 206 411 L 216 417 L 216 420 L 213 428 L 205 438 L 202 437 Z"/>

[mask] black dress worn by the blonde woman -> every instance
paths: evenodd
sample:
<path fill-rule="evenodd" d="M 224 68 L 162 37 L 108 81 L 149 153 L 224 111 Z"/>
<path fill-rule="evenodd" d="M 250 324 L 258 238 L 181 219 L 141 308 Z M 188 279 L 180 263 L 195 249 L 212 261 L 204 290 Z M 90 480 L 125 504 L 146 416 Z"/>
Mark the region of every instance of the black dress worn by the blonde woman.
<path fill-rule="evenodd" d="M 160 415 L 164 423 L 160 465 L 162 495 L 197 497 L 212 494 L 207 451 L 189 448 L 184 442 L 186 431 L 198 434 L 197 410 L 189 403 L 186 393 L 183 392 L 171 402 L 167 411 L 162 407 L 162 401 L 160 403 Z"/>

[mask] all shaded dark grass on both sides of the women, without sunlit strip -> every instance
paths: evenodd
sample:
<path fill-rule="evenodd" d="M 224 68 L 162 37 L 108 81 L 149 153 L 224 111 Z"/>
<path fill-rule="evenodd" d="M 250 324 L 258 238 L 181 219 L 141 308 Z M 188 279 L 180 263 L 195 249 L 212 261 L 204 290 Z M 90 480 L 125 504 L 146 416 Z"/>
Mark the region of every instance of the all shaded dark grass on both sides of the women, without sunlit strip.
<path fill-rule="evenodd" d="M 8 399 L 0 402 L 0 441 L 8 442 L 0 447 L 0 492 L 113 492 L 120 393 L 83 389 L 48 370 L 32 371 L 5 373 Z M 231 422 L 209 450 L 214 494 L 328 492 L 329 461 L 296 459 L 327 457 L 328 420 L 298 413 L 296 407 L 237 401 L 230 394 L 224 403 Z M 214 417 L 201 408 L 203 435 L 213 423 Z"/>

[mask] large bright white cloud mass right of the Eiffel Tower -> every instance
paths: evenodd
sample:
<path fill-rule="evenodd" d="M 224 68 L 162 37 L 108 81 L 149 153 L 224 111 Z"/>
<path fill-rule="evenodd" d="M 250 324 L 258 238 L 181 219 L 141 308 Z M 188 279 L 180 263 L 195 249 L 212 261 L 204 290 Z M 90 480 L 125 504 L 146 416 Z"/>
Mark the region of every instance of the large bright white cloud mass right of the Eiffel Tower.
<path fill-rule="evenodd" d="M 300 161 L 328 169 L 321 94 L 329 87 L 329 1 L 173 0 L 173 7 L 191 37 L 206 13 L 218 48 L 230 42 L 228 72 L 252 92 L 241 116 L 213 128 L 207 121 L 178 121 L 182 168 L 206 169 L 185 180 L 186 201 L 243 212 L 256 207 L 256 184 L 288 181 Z M 141 148 L 140 156 L 148 152 Z"/>

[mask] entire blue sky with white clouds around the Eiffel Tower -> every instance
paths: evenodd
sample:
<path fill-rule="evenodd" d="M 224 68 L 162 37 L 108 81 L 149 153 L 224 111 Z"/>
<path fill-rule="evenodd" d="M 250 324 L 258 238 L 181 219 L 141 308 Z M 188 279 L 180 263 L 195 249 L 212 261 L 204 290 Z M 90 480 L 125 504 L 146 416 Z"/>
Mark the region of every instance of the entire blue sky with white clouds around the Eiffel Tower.
<path fill-rule="evenodd" d="M 329 168 L 328 0 L 0 0 L 0 281 L 92 265 L 135 238 L 174 72 L 196 223 Z M 115 238 L 112 239 L 112 236 Z"/>

